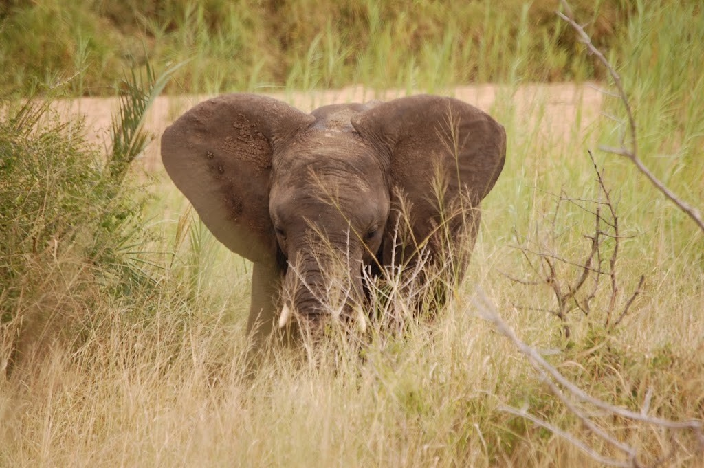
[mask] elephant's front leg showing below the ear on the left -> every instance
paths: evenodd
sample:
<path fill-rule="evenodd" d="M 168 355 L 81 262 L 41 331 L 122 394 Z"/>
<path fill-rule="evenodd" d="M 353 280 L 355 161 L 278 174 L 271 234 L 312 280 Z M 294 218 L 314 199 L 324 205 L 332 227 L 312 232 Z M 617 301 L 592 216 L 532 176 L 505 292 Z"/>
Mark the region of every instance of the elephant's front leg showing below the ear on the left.
<path fill-rule="evenodd" d="M 257 344 L 270 336 L 275 329 L 280 286 L 281 275 L 274 262 L 254 263 L 247 335 Z"/>

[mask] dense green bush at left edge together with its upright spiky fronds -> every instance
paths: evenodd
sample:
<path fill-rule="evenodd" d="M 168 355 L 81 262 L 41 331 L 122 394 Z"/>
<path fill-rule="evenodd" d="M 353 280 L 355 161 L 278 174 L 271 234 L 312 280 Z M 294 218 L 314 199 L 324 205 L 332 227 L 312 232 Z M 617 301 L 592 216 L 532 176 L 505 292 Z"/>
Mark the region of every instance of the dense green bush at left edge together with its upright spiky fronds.
<path fill-rule="evenodd" d="M 60 120 L 51 99 L 2 102 L 3 371 L 51 345 L 57 333 L 85 331 L 77 324 L 96 318 L 101 301 L 153 286 L 140 253 L 149 239 L 148 198 L 127 175 L 148 143 L 142 120 L 163 80 L 133 72 L 124 86 L 107 154 L 87 143 L 81 120 Z"/>

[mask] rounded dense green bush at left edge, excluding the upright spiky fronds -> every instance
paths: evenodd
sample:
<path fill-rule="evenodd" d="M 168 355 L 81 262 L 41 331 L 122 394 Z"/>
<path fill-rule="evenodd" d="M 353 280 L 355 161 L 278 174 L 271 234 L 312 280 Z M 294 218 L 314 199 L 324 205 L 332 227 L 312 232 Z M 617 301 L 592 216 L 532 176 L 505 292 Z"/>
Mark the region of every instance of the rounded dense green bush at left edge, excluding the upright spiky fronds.
<path fill-rule="evenodd" d="M 70 330 L 97 299 L 86 288 L 117 274 L 120 251 L 139 237 L 125 234 L 139 230 L 139 207 L 103 177 L 81 123 L 47 108 L 6 105 L 0 122 L 0 310 L 2 344 L 12 351 L 3 369 L 34 339 Z"/>

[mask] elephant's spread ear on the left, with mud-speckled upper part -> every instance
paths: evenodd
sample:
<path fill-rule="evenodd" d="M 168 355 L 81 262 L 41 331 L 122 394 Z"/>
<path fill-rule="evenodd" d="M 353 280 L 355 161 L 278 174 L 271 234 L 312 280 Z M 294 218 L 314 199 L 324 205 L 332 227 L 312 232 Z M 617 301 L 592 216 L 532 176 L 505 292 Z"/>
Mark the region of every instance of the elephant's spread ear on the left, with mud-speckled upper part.
<path fill-rule="evenodd" d="M 161 137 L 166 172 L 227 248 L 270 260 L 272 156 L 315 118 L 276 99 L 228 94 L 195 106 Z"/>

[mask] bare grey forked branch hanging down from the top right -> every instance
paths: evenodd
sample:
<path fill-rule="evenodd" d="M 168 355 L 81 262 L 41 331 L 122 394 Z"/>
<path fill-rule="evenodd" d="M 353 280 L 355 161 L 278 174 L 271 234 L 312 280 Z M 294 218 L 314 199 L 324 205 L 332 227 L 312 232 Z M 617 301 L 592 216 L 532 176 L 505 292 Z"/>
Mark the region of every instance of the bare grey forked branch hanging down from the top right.
<path fill-rule="evenodd" d="M 594 56 L 600 61 L 608 70 L 609 75 L 611 76 L 612 80 L 614 81 L 614 84 L 616 85 L 616 88 L 618 89 L 618 97 L 621 99 L 624 108 L 626 109 L 626 113 L 628 115 L 628 126 L 629 126 L 629 133 L 631 135 L 631 148 L 628 148 L 625 143 L 625 136 L 621 136 L 621 147 L 620 148 L 613 148 L 611 146 L 599 146 L 599 149 L 602 151 L 606 151 L 608 153 L 614 153 L 618 154 L 620 156 L 624 156 L 625 158 L 628 158 L 631 160 L 631 163 L 634 163 L 638 170 L 646 176 L 646 178 L 650 181 L 651 184 L 655 186 L 656 189 L 658 189 L 662 194 L 664 194 L 667 198 L 670 198 L 670 201 L 677 205 L 677 207 L 684 211 L 689 217 L 692 218 L 694 222 L 698 225 L 699 229 L 704 232 L 704 220 L 702 219 L 701 214 L 699 213 L 699 210 L 692 205 L 689 205 L 689 203 L 686 203 L 685 201 L 681 200 L 677 195 L 674 194 L 670 189 L 665 186 L 662 182 L 660 182 L 660 179 L 658 177 L 655 177 L 653 175 L 653 172 L 650 172 L 648 170 L 648 167 L 646 167 L 645 164 L 643 164 L 643 161 L 638 157 L 638 143 L 636 139 L 636 120 L 633 115 L 633 110 L 631 109 L 631 105 L 628 100 L 628 95 L 626 94 L 626 91 L 624 90 L 623 83 L 621 81 L 621 76 L 616 72 L 616 70 L 612 67 L 612 65 L 609 63 L 608 59 L 604 56 L 599 49 L 594 46 L 594 44 L 591 42 L 591 37 L 589 37 L 589 34 L 586 34 L 584 31 L 584 27 L 579 25 L 574 20 L 574 15 L 572 15 L 572 9 L 570 8 L 570 5 L 567 4 L 566 0 L 561 0 L 562 6 L 565 9 L 565 13 L 562 13 L 561 11 L 556 11 L 557 15 L 565 20 L 572 28 L 574 29 L 575 32 L 577 32 L 577 35 L 579 36 L 580 42 L 586 45 L 587 49 L 589 49 L 590 53 L 593 53 Z"/>

